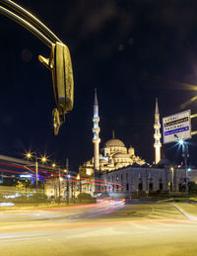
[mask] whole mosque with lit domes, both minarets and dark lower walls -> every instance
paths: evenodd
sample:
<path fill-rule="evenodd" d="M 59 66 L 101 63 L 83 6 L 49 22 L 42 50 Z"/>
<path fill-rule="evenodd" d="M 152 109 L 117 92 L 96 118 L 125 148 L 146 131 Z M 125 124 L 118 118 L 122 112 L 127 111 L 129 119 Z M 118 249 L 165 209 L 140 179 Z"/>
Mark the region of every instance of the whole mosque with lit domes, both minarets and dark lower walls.
<path fill-rule="evenodd" d="M 149 194 L 158 191 L 164 193 L 182 191 L 186 175 L 184 167 L 173 166 L 168 160 L 161 159 L 162 134 L 158 99 L 156 99 L 154 124 L 155 160 L 152 164 L 136 155 L 132 146 L 127 148 L 123 141 L 115 138 L 114 132 L 112 138 L 107 140 L 99 149 L 100 128 L 97 91 L 95 92 L 93 124 L 94 156 L 79 168 L 80 177 L 84 179 L 82 192 L 95 196 L 102 191 L 107 192 L 112 197 L 119 195 L 121 198 L 130 198 L 131 195 L 139 192 Z M 88 179 L 93 181 L 95 179 L 96 181 L 97 178 L 103 182 L 101 186 L 88 182 Z"/>

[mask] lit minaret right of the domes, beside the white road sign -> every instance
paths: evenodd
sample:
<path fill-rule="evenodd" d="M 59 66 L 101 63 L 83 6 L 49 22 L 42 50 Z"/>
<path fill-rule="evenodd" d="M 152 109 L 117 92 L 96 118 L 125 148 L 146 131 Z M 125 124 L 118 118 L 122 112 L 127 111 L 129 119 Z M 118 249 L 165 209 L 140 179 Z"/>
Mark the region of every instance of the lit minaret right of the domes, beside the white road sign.
<path fill-rule="evenodd" d="M 158 108 L 158 98 L 156 98 L 156 113 L 155 113 L 155 134 L 154 134 L 154 138 L 155 138 L 155 143 L 154 143 L 154 147 L 155 147 L 155 163 L 159 163 L 161 160 L 161 147 L 162 147 L 162 143 L 161 143 L 161 132 L 160 132 L 160 128 L 161 128 L 161 124 L 160 124 L 160 113 L 159 113 L 159 108 Z"/>

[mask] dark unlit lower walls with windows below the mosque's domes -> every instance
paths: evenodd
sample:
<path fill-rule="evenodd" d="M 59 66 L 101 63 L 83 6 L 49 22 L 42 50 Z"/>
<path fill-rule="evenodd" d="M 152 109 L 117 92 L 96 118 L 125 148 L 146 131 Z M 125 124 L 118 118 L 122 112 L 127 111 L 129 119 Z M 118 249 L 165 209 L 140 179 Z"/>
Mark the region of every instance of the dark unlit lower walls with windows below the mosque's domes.
<path fill-rule="evenodd" d="M 190 179 L 191 173 L 189 174 Z M 135 194 L 143 195 L 156 192 L 174 193 L 183 190 L 185 169 L 173 167 L 168 164 L 167 160 L 162 160 L 159 165 L 153 167 L 146 164 L 143 166 L 131 165 L 110 172 L 105 171 L 101 174 L 101 179 L 106 184 L 123 185 L 121 189 L 117 185 L 112 185 L 110 188 L 102 186 L 101 190 L 112 197 L 129 198 Z"/>

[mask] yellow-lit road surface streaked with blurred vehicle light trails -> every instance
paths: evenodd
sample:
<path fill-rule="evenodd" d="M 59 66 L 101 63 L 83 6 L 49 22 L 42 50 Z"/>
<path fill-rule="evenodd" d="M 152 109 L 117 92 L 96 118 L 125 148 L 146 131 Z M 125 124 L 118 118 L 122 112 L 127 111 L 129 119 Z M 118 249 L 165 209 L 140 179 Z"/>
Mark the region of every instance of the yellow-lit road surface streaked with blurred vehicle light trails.
<path fill-rule="evenodd" d="M 0 213 L 0 255 L 197 255 L 197 206 L 102 202 Z"/>

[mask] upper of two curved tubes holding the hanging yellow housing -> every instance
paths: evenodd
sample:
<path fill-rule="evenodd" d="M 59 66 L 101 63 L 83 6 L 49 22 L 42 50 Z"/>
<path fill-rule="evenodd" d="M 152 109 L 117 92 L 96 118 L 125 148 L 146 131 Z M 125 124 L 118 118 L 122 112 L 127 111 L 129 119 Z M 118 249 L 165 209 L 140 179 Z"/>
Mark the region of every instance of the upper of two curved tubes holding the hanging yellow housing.
<path fill-rule="evenodd" d="M 33 14 L 28 12 L 26 9 L 24 9 L 20 5 L 10 0 L 0 0 L 0 2 L 7 5 L 9 8 L 13 9 L 14 11 L 18 12 L 26 20 L 31 22 L 35 27 L 37 27 L 39 31 L 42 31 L 45 34 L 45 36 L 47 36 L 53 43 L 56 43 L 56 42 L 62 43 L 60 39 L 58 39 L 43 23 L 41 23 L 36 17 L 33 16 Z"/>

